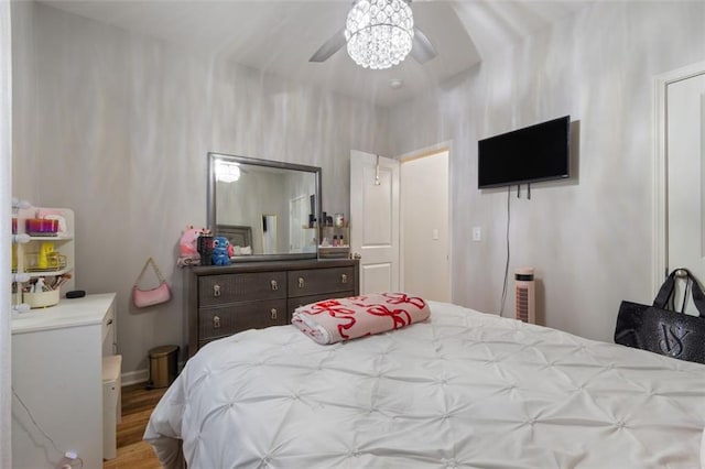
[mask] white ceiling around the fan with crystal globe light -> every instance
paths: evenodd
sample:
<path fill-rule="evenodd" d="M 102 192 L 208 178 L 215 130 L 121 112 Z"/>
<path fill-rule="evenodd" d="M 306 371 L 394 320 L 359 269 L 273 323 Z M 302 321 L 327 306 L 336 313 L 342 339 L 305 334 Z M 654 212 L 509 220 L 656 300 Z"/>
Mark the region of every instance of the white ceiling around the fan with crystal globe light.
<path fill-rule="evenodd" d="M 482 57 L 573 14 L 594 0 L 414 1 L 415 25 L 438 51 L 421 65 L 408 57 L 387 70 L 356 65 L 343 47 L 324 63 L 314 52 L 340 28 L 351 1 L 45 0 L 42 3 L 196 53 L 390 106 L 435 87 Z M 399 89 L 391 79 L 402 79 Z"/>

